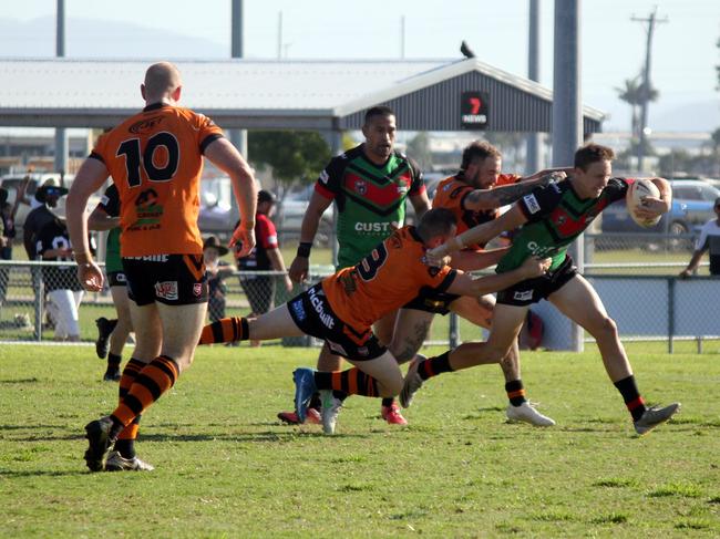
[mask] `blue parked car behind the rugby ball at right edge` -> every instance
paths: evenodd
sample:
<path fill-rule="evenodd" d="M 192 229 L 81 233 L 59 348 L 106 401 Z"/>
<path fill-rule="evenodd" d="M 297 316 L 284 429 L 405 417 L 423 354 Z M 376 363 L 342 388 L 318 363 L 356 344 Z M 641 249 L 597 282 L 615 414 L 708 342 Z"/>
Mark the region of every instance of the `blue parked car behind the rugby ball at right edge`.
<path fill-rule="evenodd" d="M 712 209 L 720 190 L 699 179 L 671 179 L 672 207 L 657 226 L 642 228 L 629 216 L 625 200 L 611 204 L 603 211 L 603 232 L 659 232 L 680 236 L 695 232 L 714 218 Z"/>

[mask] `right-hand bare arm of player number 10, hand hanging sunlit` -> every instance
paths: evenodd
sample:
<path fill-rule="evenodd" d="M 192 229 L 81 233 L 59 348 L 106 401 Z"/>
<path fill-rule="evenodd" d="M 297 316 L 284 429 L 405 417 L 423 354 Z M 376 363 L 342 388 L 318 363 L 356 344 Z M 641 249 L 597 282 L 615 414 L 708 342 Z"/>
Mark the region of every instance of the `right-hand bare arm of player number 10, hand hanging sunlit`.
<path fill-rule="evenodd" d="M 257 211 L 257 183 L 253 169 L 227 138 L 217 138 L 205 148 L 205 157 L 227 174 L 233 182 L 235 200 L 240 209 L 240 224 L 233 232 L 230 247 L 238 243 L 236 257 L 246 257 L 255 247 L 255 214 Z"/>

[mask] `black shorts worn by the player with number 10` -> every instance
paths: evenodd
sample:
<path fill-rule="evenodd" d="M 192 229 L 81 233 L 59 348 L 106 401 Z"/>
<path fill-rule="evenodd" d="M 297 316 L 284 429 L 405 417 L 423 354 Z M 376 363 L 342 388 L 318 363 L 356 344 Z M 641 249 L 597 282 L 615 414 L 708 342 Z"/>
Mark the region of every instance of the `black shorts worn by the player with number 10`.
<path fill-rule="evenodd" d="M 207 302 L 203 255 L 123 257 L 127 297 L 137 305 L 158 301 L 166 305 Z"/>

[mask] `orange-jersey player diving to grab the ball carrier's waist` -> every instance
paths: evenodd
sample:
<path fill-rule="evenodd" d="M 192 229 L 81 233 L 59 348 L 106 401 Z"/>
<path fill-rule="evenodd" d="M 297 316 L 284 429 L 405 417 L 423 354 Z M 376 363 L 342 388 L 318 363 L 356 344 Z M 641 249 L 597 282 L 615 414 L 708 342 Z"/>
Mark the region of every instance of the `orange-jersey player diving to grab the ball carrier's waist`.
<path fill-rule="evenodd" d="M 497 276 L 472 278 L 449 266 L 426 266 L 425 251 L 454 237 L 455 229 L 452 211 L 430 210 L 416 228 L 394 231 L 358 265 L 339 270 L 269 313 L 254 320 L 229 318 L 206 325 L 200 344 L 304 334 L 325 340 L 333 353 L 346 357 L 354 367 L 335 372 L 296 370 L 296 413 L 304 422 L 309 400 L 319 391 L 323 431 L 333 434 L 342 405 L 333 391 L 390 397 L 402 387 L 398 360 L 372 332 L 373 322 L 408 303 L 423 287 L 480 296 L 545 271 L 548 261 L 534 257 L 515 273 L 503 276 L 504 281 Z M 495 253 L 490 256 L 497 258 Z"/>

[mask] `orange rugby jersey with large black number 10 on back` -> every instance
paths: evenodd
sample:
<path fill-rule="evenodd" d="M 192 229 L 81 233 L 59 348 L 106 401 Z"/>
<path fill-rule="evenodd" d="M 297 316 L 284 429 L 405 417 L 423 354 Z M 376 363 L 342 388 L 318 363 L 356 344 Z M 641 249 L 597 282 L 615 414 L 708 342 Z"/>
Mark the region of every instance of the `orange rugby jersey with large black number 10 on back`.
<path fill-rule="evenodd" d="M 223 131 L 189 108 L 146 106 L 103 134 L 102 160 L 120 193 L 121 255 L 200 255 L 203 152 Z"/>

